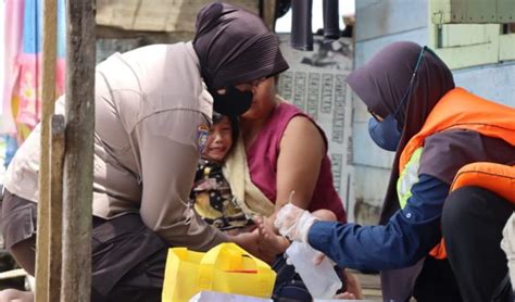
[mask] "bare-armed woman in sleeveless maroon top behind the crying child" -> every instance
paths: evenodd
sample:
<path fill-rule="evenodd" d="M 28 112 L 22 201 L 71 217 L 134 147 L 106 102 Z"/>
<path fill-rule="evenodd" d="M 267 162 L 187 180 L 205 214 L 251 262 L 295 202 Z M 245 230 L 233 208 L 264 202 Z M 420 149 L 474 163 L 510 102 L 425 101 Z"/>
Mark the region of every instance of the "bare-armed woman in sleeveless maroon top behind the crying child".
<path fill-rule="evenodd" d="M 329 210 L 346 222 L 332 184 L 327 140 L 315 122 L 276 95 L 276 78 L 254 83 L 251 108 L 240 128 L 252 183 L 276 209 L 292 202 L 311 212 Z"/>

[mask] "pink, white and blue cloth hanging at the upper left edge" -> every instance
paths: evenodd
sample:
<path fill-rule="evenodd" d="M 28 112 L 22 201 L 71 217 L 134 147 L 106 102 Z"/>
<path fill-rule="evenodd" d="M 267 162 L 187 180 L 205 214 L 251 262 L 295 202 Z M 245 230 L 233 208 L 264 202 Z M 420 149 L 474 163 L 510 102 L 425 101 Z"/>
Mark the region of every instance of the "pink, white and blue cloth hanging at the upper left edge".
<path fill-rule="evenodd" d="M 15 134 L 21 143 L 39 123 L 42 76 L 43 0 L 7 0 L 5 88 L 2 133 Z M 64 91 L 65 7 L 58 0 L 56 95 Z"/>

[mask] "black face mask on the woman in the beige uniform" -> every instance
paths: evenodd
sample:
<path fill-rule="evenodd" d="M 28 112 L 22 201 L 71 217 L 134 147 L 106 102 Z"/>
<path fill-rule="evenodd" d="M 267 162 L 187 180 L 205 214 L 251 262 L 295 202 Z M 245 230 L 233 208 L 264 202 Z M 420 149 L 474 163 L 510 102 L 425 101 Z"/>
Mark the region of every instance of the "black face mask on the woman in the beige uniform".
<path fill-rule="evenodd" d="M 213 109 L 219 114 L 227 116 L 239 116 L 248 111 L 252 104 L 254 97 L 252 91 L 240 91 L 236 87 L 230 86 L 225 89 L 225 95 L 218 95 L 211 91 L 213 96 Z"/>

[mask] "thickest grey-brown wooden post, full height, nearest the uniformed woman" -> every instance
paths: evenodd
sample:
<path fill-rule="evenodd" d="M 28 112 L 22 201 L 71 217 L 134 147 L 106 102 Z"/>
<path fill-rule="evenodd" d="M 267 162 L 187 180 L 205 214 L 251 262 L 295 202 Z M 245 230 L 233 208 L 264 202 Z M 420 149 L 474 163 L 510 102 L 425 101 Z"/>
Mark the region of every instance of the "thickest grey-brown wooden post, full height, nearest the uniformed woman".
<path fill-rule="evenodd" d="M 90 301 L 95 0 L 66 1 L 66 130 L 61 301 Z"/>

